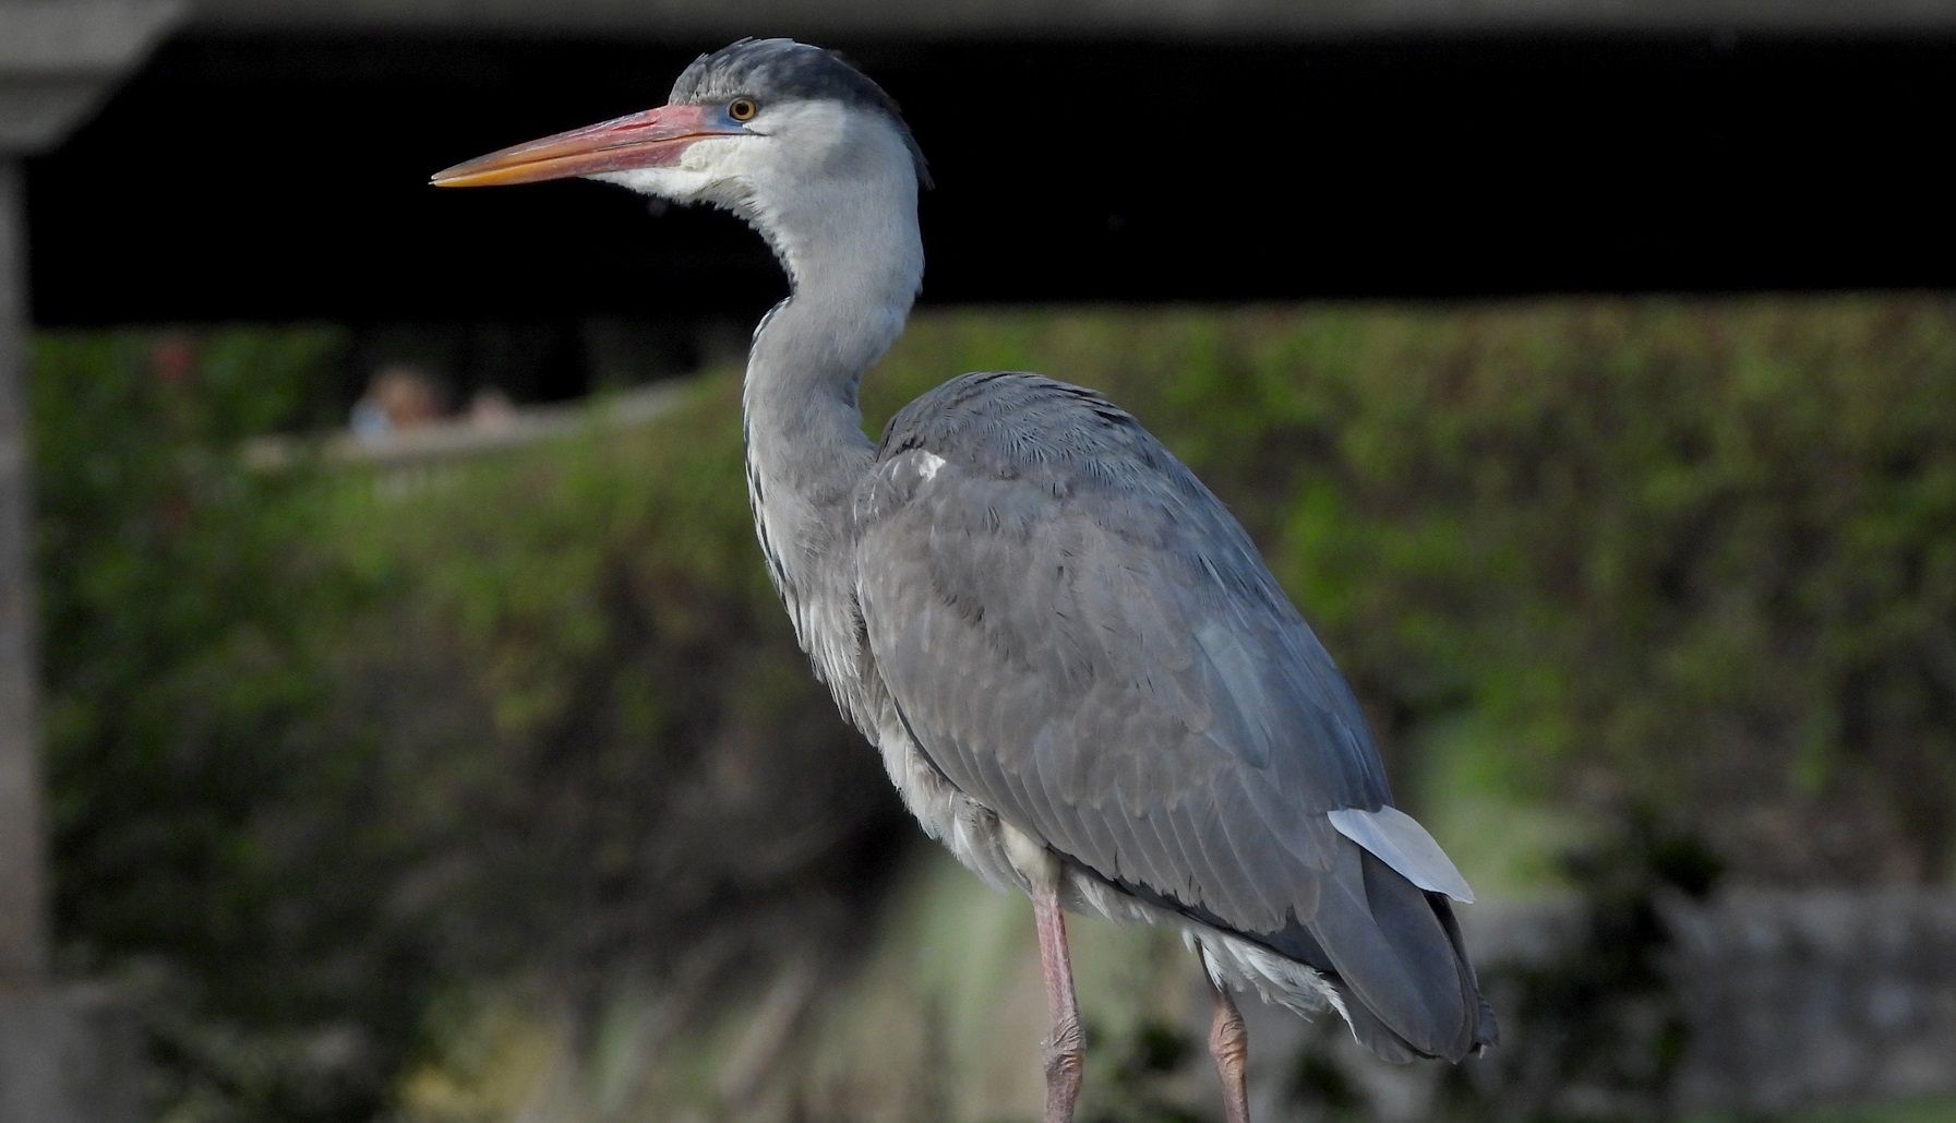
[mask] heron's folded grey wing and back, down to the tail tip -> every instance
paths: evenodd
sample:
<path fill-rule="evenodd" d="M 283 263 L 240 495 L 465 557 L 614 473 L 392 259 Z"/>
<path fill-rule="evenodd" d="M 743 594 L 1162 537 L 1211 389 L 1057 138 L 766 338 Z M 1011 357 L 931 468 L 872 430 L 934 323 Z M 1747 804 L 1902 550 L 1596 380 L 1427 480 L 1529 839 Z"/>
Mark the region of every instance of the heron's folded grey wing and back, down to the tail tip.
<path fill-rule="evenodd" d="M 1391 812 L 1352 691 L 1250 538 L 1127 413 L 955 380 L 892 421 L 855 517 L 876 673 L 953 785 L 1332 974 L 1391 1029 L 1381 1055 L 1492 1033 L 1432 896 L 1465 882 Z"/>

